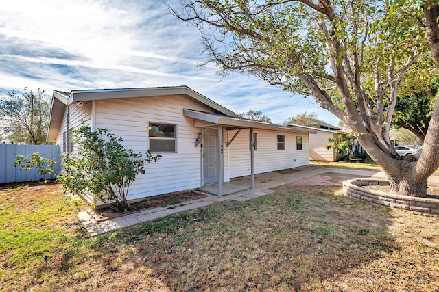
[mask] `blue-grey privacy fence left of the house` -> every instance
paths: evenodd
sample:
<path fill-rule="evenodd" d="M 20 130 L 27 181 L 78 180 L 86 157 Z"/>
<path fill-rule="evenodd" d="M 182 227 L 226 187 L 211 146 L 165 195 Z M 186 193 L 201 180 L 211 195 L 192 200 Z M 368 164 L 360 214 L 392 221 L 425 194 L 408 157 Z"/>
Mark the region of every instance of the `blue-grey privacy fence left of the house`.
<path fill-rule="evenodd" d="M 54 174 L 45 174 L 41 177 L 37 169 L 21 170 L 20 166 L 15 167 L 14 161 L 17 154 L 25 157 L 39 152 L 41 157 L 53 158 L 56 160 Z M 53 179 L 60 170 L 60 146 L 58 145 L 17 145 L 0 144 L 0 183 L 21 183 L 25 181 L 40 181 L 40 179 Z"/>

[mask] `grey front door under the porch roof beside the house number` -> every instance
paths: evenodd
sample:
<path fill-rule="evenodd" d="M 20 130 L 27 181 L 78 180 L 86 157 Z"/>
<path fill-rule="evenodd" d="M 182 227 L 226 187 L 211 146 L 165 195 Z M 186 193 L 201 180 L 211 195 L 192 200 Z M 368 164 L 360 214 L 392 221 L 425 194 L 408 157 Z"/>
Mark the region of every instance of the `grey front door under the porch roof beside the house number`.
<path fill-rule="evenodd" d="M 218 183 L 218 133 L 209 129 L 203 137 L 204 185 Z"/>

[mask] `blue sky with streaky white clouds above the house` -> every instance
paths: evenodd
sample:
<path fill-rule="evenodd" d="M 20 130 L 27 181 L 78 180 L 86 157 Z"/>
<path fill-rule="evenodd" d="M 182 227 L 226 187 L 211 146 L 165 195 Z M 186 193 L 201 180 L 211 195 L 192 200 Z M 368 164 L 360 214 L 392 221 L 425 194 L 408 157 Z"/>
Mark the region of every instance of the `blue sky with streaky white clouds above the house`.
<path fill-rule="evenodd" d="M 147 88 L 187 85 L 239 114 L 262 111 L 275 124 L 315 112 L 338 118 L 313 98 L 284 92 L 256 77 L 226 77 L 207 56 L 196 27 L 169 14 L 167 0 L 3 0 L 0 96 L 12 90 Z"/>

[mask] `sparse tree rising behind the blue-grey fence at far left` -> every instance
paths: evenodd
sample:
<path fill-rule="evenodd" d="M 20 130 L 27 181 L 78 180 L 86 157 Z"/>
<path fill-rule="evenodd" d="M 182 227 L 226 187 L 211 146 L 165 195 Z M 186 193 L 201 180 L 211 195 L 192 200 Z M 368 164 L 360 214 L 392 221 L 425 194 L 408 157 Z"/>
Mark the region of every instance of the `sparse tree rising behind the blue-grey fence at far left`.
<path fill-rule="evenodd" d="M 44 90 L 25 88 L 6 92 L 0 98 L 2 135 L 14 143 L 45 144 L 50 115 L 50 98 Z"/>

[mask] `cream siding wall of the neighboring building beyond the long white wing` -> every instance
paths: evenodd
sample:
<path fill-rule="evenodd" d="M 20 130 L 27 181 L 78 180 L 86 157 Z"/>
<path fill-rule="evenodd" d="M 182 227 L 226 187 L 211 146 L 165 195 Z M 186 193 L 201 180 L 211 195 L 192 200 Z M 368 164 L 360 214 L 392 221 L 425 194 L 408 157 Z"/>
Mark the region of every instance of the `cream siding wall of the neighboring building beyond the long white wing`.
<path fill-rule="evenodd" d="M 309 135 L 309 159 L 315 161 L 334 161 L 333 148 L 327 149 L 328 138 L 336 138 L 337 133 L 318 131 Z"/>

